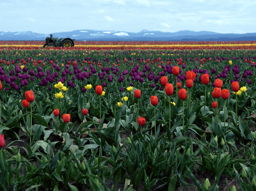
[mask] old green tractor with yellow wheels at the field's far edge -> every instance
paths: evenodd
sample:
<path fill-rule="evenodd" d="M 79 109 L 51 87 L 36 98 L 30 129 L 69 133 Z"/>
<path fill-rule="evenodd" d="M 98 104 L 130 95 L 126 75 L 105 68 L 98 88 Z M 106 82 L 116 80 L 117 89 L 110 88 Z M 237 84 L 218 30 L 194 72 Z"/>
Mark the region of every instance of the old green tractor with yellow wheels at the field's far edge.
<path fill-rule="evenodd" d="M 70 38 L 53 38 L 53 35 L 51 34 L 51 38 L 47 37 L 45 38 L 45 44 L 44 47 L 73 47 L 75 39 Z"/>

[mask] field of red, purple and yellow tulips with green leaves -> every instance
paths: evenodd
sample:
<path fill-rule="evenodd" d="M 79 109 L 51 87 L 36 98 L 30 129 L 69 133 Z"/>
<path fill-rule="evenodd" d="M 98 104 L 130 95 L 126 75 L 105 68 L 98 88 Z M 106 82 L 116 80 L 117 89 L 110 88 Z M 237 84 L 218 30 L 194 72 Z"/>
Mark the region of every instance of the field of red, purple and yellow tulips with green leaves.
<path fill-rule="evenodd" d="M 256 41 L 0 41 L 0 190 L 256 191 Z"/>

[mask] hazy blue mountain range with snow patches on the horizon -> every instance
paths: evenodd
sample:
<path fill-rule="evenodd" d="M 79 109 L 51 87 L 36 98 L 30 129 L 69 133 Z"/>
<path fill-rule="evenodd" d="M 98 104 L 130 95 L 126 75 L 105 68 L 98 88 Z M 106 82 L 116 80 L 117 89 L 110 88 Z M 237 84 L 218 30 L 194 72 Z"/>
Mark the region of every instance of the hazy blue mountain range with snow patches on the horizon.
<path fill-rule="evenodd" d="M 221 34 L 217 32 L 180 30 L 178 32 L 161 32 L 142 30 L 140 32 L 125 32 L 117 30 L 73 30 L 71 32 L 52 33 L 55 38 L 75 39 L 75 41 L 255 41 L 255 33 Z M 44 41 L 50 34 L 40 34 L 32 31 L 3 32 L 2 41 Z"/>

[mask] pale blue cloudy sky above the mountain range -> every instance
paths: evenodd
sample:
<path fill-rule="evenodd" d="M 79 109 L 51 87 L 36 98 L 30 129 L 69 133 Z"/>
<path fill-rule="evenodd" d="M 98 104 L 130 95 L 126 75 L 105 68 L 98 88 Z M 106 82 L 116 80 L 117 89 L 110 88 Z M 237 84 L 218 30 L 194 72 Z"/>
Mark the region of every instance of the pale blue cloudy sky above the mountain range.
<path fill-rule="evenodd" d="M 0 0 L 0 31 L 243 34 L 256 32 L 255 12 L 255 0 Z"/>

